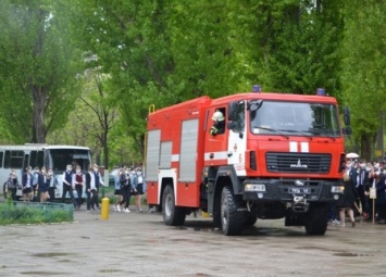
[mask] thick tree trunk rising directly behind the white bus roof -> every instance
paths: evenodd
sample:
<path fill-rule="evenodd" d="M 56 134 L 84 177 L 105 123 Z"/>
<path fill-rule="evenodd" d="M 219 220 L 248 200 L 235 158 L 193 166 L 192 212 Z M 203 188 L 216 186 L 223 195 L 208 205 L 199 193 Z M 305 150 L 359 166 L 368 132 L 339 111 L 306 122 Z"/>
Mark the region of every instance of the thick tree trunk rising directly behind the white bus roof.
<path fill-rule="evenodd" d="M 45 109 L 47 104 L 47 93 L 43 87 L 32 86 L 34 124 L 33 143 L 46 143 Z"/>

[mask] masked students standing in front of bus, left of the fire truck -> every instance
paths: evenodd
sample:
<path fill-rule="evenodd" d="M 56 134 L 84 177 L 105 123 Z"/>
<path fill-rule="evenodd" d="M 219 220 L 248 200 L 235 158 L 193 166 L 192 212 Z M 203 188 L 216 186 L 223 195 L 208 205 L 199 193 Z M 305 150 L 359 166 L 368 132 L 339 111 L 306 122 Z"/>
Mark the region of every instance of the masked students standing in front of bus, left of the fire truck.
<path fill-rule="evenodd" d="M 141 168 L 128 168 L 126 166 L 120 168 L 115 177 L 115 191 L 117 201 L 114 204 L 114 211 L 129 213 L 130 198 L 135 197 L 135 207 L 138 212 L 142 212 L 141 198 L 145 191 L 144 177 Z M 103 179 L 99 173 L 97 164 L 90 165 L 86 174 L 82 172 L 79 165 L 66 166 L 66 171 L 62 176 L 63 187 L 61 201 L 64 203 L 69 194 L 75 210 L 79 210 L 84 204 L 83 192 L 86 192 L 87 211 L 100 210 L 99 190 L 103 186 Z M 23 201 L 29 202 L 47 202 L 53 201 L 54 190 L 58 186 L 58 176 L 53 171 L 46 167 L 28 166 L 22 175 L 22 182 L 18 182 L 15 171 L 11 169 L 10 176 L 4 184 L 4 196 L 16 201 L 16 192 L 21 187 L 23 191 Z M 84 187 L 85 186 L 85 187 Z M 74 196 L 76 191 L 76 198 Z"/>

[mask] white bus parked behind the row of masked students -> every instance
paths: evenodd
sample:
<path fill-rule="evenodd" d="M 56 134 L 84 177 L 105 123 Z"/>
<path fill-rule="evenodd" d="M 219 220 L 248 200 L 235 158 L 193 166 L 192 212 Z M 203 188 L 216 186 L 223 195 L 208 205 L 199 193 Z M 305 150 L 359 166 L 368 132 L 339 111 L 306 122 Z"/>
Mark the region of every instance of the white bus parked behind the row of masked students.
<path fill-rule="evenodd" d="M 91 164 L 91 151 L 87 147 L 75 146 L 50 146 L 27 143 L 23 146 L 0 146 L 0 181 L 3 185 L 10 176 L 11 169 L 17 175 L 18 184 L 22 185 L 22 175 L 30 166 L 52 168 L 58 178 L 55 199 L 61 199 L 63 191 L 63 173 L 67 164 L 80 165 L 84 174 Z M 85 198 L 85 187 L 83 198 Z M 17 189 L 16 197 L 22 197 L 22 188 Z M 66 196 L 69 198 L 69 193 Z M 76 198 L 76 191 L 74 190 Z"/>

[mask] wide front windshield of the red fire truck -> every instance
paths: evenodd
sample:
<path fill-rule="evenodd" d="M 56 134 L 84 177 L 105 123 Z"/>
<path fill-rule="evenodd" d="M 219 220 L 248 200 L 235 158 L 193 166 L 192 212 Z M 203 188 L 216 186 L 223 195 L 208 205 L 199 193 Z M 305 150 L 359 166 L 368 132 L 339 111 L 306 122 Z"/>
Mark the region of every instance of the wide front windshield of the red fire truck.
<path fill-rule="evenodd" d="M 334 104 L 264 101 L 251 111 L 251 131 L 259 135 L 339 137 Z"/>

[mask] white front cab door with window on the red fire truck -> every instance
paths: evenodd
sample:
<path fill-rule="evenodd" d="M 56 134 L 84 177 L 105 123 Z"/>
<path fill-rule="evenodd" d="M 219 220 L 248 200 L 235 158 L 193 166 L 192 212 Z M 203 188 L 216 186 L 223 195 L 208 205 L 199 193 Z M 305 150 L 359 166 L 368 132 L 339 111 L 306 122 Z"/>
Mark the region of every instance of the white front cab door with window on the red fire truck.
<path fill-rule="evenodd" d="M 232 117 L 233 121 L 229 124 L 231 128 L 227 144 L 228 164 L 235 167 L 237 176 L 245 176 L 245 161 L 247 149 L 247 124 L 245 101 L 239 101 L 234 105 Z"/>

